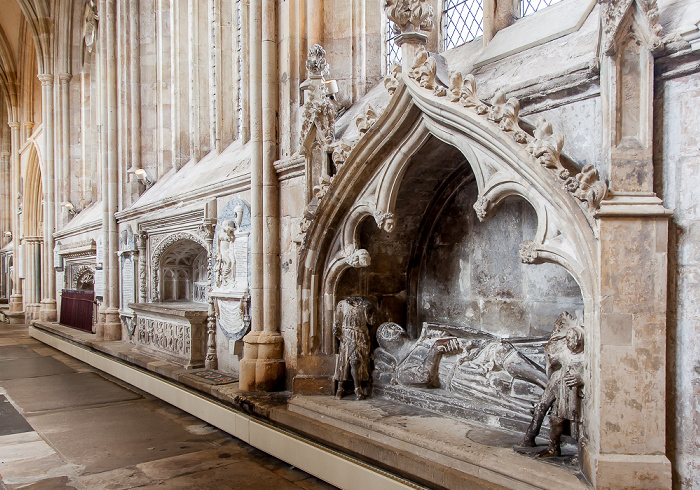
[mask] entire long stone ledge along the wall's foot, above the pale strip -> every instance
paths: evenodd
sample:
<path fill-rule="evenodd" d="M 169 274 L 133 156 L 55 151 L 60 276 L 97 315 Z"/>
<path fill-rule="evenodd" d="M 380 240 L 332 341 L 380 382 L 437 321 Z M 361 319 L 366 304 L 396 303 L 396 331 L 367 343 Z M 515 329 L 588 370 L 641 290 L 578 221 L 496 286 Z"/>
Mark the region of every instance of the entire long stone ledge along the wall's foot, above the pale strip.
<path fill-rule="evenodd" d="M 353 396 L 342 400 L 332 396 L 296 396 L 290 399 L 289 392 L 243 392 L 238 383 L 210 385 L 187 376 L 192 371 L 182 366 L 136 350 L 128 341 L 98 341 L 94 334 L 54 323 L 34 322 L 30 335 L 61 350 L 64 349 L 60 346 L 64 345 L 64 352 L 77 358 L 80 356 L 72 351 L 84 351 L 88 356 L 105 359 L 100 362 L 148 372 L 175 391 L 199 393 L 221 407 L 231 407 L 231 414 L 237 413 L 235 410 L 246 412 L 319 447 L 430 488 L 590 488 L 575 468 L 515 453 L 512 445 L 522 436 L 518 433 L 381 398 L 356 401 Z M 131 382 L 129 378 L 120 379 Z M 313 385 L 319 380 L 305 381 Z M 189 411 L 187 407 L 184 409 Z M 206 420 L 204 412 L 190 413 Z M 539 442 L 546 444 L 544 439 Z M 352 481 L 354 476 L 348 478 Z"/>

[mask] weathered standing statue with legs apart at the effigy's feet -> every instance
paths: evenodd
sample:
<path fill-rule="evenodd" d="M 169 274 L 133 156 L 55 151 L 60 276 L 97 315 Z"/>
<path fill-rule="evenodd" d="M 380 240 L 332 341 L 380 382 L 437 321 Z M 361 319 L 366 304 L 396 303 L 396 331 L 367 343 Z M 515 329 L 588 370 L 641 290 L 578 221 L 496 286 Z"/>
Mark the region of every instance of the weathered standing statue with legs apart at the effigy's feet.
<path fill-rule="evenodd" d="M 581 420 L 579 392 L 583 386 L 583 329 L 571 314 L 564 312 L 557 319 L 552 335 L 545 345 L 549 380 L 535 406 L 535 412 L 520 447 L 534 447 L 544 416 L 549 416 L 549 447 L 538 457 L 561 455 L 561 436 L 569 422 L 571 436 L 578 439 Z"/>

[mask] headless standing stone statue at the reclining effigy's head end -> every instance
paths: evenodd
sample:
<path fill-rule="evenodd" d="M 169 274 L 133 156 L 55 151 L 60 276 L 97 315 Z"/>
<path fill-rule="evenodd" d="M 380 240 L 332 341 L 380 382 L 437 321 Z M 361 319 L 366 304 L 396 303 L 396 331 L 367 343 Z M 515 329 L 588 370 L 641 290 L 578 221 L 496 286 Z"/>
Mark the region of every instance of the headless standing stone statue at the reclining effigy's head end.
<path fill-rule="evenodd" d="M 369 326 L 374 323 L 374 309 L 369 300 L 351 296 L 338 303 L 335 309 L 333 335 L 340 341 L 335 375 L 338 383 L 335 397 L 345 393 L 343 384 L 352 376 L 358 400 L 365 398 L 363 382 L 369 381 L 370 340 Z"/>

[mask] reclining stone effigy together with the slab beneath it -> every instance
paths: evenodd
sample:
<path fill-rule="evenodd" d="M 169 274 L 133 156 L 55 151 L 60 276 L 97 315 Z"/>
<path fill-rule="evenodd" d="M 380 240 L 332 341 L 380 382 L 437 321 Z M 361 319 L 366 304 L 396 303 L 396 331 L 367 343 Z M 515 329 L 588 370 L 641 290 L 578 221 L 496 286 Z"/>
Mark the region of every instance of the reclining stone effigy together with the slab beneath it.
<path fill-rule="evenodd" d="M 423 324 L 418 339 L 396 323 L 377 329 L 373 391 L 450 415 L 524 427 L 547 385 L 544 339 Z"/>

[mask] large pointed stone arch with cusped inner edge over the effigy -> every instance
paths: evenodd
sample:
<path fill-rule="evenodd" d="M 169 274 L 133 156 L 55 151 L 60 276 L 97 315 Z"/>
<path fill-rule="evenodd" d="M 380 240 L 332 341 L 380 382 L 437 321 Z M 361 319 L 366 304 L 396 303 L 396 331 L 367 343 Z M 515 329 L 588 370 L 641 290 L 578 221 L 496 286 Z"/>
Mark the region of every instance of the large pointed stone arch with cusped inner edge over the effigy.
<path fill-rule="evenodd" d="M 508 198 L 527 201 L 537 226 L 533 240 L 520 247 L 523 261 L 564 267 L 580 287 L 586 323 L 598 321 L 597 242 L 591 214 L 556 173 L 516 141 L 513 132 L 483 112 L 435 96 L 403 78 L 385 111 L 348 155 L 307 231 L 298 269 L 301 357 L 334 353 L 333 309 L 342 299 L 336 297 L 338 281 L 351 267 L 374 260 L 358 242 L 361 226 L 373 219 L 387 234 L 403 226 L 396 216 L 400 189 L 410 163 L 435 141 L 466 165 L 448 168 L 441 160 L 426 167 L 426 175 L 439 174 L 440 185 L 447 186 L 455 179 L 473 179 L 479 195 L 474 209 L 480 220 L 497 214 Z M 572 175 L 580 171 L 565 157 L 562 160 Z"/>

